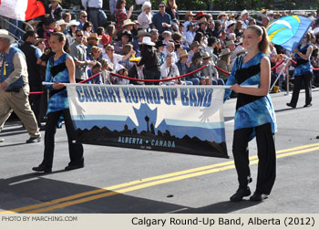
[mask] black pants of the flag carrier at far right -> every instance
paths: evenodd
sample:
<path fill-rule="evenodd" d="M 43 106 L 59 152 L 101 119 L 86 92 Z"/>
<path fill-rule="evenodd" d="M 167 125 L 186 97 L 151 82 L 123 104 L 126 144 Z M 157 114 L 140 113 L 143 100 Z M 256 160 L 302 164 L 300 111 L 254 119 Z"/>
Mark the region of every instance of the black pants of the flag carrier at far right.
<path fill-rule="evenodd" d="M 299 99 L 299 92 L 302 86 L 302 82 L 304 81 L 304 91 L 305 91 L 305 104 L 310 104 L 312 101 L 312 79 L 313 74 L 308 72 L 303 75 L 295 76 L 293 81 L 293 97 L 291 100 L 291 104 L 294 106 L 297 105 Z"/>

